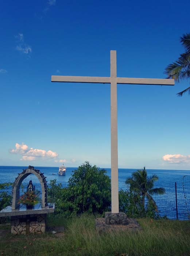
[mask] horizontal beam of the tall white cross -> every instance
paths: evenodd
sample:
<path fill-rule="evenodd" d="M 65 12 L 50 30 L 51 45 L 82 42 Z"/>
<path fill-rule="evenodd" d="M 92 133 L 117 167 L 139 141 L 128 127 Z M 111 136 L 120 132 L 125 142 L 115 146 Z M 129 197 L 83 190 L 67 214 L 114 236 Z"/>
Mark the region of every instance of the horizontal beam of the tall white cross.
<path fill-rule="evenodd" d="M 65 83 L 111 83 L 111 79 L 110 77 L 101 76 L 51 76 L 51 82 Z M 116 81 L 119 84 L 174 85 L 174 79 L 117 77 Z"/>

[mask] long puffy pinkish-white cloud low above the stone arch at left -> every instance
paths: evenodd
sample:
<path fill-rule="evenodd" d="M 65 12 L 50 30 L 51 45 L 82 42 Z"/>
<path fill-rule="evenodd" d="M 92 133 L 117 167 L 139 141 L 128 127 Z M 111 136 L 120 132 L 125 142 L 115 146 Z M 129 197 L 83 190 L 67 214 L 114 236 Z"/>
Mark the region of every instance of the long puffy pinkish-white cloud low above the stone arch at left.
<path fill-rule="evenodd" d="M 15 148 L 11 149 L 9 151 L 11 154 L 20 154 L 22 155 L 22 158 L 20 160 L 31 160 L 34 161 L 37 158 L 47 159 L 47 158 L 57 158 L 58 153 L 53 152 L 51 150 L 43 150 L 38 148 L 28 148 L 28 146 L 24 143 L 15 144 Z"/>

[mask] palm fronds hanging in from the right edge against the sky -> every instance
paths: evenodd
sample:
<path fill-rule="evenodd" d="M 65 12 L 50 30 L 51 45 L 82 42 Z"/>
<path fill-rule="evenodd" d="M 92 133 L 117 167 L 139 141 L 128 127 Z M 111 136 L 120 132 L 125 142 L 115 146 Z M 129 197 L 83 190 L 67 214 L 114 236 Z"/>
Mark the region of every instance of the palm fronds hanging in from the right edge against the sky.
<path fill-rule="evenodd" d="M 180 42 L 185 47 L 185 53 L 182 53 L 175 62 L 169 64 L 164 71 L 167 79 L 172 78 L 176 82 L 180 82 L 183 79 L 189 80 L 190 78 L 190 33 L 183 34 Z M 187 87 L 178 93 L 178 96 L 182 96 L 187 91 L 190 95 L 190 87 Z"/>

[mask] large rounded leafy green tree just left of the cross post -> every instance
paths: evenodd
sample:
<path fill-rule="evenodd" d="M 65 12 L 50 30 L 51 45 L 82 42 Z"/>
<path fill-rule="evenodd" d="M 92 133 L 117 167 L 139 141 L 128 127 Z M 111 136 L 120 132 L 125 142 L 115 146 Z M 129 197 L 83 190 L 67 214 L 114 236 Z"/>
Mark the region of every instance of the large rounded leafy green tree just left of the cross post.
<path fill-rule="evenodd" d="M 106 170 L 85 162 L 74 171 L 68 182 L 70 200 L 79 207 L 79 212 L 102 214 L 110 207 L 111 180 Z"/>

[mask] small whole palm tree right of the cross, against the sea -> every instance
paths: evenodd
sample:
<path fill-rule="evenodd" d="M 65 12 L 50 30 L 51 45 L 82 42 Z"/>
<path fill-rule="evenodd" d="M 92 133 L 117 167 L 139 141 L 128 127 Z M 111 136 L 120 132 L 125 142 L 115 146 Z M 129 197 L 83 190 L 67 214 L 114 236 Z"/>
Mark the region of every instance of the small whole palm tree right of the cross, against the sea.
<path fill-rule="evenodd" d="M 162 195 L 165 193 L 165 189 L 153 188 L 154 182 L 158 180 L 158 176 L 153 174 L 152 176 L 147 176 L 147 171 L 144 167 L 143 170 L 137 170 L 132 173 L 132 177 L 127 178 L 125 181 L 126 184 L 130 185 L 130 189 L 139 193 L 142 197 L 142 203 L 144 208 L 144 200 L 147 197 L 148 201 L 152 202 L 155 206 L 155 210 L 157 210 L 156 202 L 152 198 L 152 195 Z"/>

